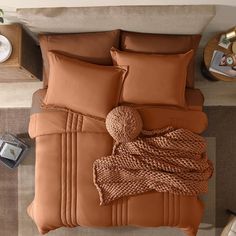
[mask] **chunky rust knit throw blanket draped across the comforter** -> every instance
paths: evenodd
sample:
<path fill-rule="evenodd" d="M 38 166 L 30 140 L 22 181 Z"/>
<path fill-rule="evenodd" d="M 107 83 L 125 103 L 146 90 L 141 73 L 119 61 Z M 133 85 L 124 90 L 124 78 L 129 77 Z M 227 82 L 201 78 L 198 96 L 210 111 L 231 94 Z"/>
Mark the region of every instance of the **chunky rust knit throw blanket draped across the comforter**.
<path fill-rule="evenodd" d="M 212 173 L 205 139 L 171 127 L 116 144 L 93 164 L 101 205 L 153 190 L 196 196 L 207 192 Z"/>

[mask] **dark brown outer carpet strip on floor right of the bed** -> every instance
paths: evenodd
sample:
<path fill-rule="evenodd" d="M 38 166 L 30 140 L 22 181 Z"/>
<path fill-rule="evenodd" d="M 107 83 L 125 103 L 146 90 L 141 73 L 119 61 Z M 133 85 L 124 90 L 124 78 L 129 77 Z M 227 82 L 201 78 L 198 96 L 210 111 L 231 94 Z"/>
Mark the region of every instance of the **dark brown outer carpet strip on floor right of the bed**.
<path fill-rule="evenodd" d="M 216 226 L 226 225 L 226 209 L 236 210 L 236 107 L 205 107 L 206 137 L 216 138 Z"/>

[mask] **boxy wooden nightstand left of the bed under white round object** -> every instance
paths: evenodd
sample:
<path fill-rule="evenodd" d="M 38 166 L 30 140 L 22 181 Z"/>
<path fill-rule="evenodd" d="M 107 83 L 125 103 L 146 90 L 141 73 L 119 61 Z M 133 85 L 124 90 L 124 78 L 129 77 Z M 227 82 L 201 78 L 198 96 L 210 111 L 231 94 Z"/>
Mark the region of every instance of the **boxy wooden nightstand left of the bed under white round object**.
<path fill-rule="evenodd" d="M 42 79 L 39 46 L 20 24 L 0 25 L 0 34 L 12 44 L 10 58 L 0 63 L 0 82 L 38 81 Z"/>

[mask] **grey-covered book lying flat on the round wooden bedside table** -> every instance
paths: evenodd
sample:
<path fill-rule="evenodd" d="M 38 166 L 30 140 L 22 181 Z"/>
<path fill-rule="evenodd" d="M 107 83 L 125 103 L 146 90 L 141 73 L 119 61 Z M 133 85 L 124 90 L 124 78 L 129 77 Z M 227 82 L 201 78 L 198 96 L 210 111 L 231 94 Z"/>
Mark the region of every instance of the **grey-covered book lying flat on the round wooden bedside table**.
<path fill-rule="evenodd" d="M 225 64 L 225 53 L 215 50 L 211 59 L 209 71 L 236 79 L 236 67 Z"/>

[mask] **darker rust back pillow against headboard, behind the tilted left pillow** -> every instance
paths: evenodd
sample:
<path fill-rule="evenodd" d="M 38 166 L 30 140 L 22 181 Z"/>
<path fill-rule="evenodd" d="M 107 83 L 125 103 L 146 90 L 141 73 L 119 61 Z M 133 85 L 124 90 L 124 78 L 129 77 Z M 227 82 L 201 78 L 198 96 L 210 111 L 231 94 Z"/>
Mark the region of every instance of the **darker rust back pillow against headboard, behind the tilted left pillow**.
<path fill-rule="evenodd" d="M 40 35 L 39 43 L 44 61 L 44 86 L 47 86 L 49 76 L 48 51 L 58 51 L 95 64 L 112 65 L 110 49 L 113 46 L 118 47 L 119 37 L 120 30 Z"/>

